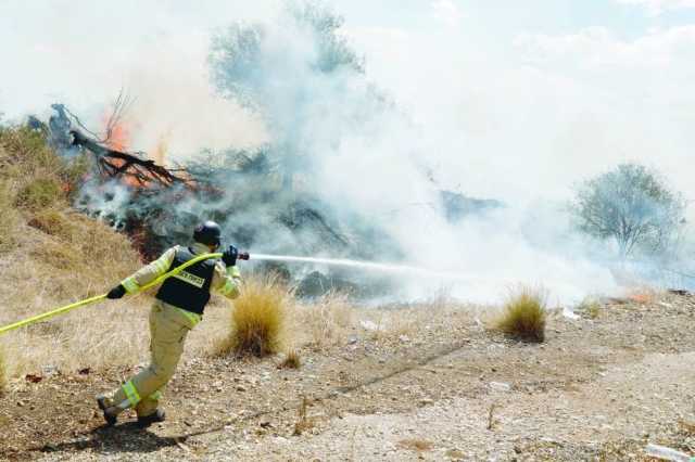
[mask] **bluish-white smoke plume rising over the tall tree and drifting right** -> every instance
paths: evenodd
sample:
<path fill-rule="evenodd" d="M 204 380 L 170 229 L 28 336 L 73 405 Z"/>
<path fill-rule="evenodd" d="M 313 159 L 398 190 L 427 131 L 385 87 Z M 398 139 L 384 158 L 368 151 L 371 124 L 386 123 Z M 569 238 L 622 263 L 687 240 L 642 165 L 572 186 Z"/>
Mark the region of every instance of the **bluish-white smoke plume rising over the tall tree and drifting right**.
<path fill-rule="evenodd" d="M 475 280 L 452 285 L 456 296 L 485 301 L 519 282 L 545 285 L 565 301 L 616 291 L 610 271 L 592 262 L 557 207 L 509 204 L 447 219 L 443 187 L 428 158 L 429 150 L 448 150 L 447 139 L 432 145 L 388 90 L 370 82 L 340 26 L 320 5 L 291 3 L 275 18 L 233 25 L 215 38 L 217 87 L 263 115 L 286 175 L 301 175 L 306 191 L 341 222 L 350 216 L 382 230 L 406 262 Z M 388 255 L 387 242 L 363 244 L 372 258 Z M 433 294 L 443 283 L 399 282 L 409 298 Z"/>

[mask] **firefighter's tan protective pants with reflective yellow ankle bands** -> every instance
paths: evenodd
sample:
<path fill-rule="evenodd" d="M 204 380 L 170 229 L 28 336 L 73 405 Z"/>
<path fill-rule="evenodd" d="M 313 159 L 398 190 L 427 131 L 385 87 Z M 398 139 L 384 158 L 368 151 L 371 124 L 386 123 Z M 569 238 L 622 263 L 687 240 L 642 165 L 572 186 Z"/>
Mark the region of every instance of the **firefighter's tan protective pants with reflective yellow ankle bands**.
<path fill-rule="evenodd" d="M 155 300 L 150 311 L 150 365 L 110 395 L 118 411 L 135 408 L 139 416 L 156 411 L 161 390 L 174 375 L 188 332 L 200 321 L 195 313 Z"/>

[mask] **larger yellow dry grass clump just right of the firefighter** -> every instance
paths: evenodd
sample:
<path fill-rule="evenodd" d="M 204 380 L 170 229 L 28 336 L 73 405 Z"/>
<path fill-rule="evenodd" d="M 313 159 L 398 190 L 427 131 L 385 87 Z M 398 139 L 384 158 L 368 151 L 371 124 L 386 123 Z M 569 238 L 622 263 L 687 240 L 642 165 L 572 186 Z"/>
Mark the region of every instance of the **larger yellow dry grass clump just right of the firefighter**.
<path fill-rule="evenodd" d="M 251 280 L 233 303 L 231 332 L 217 346 L 219 355 L 275 354 L 281 345 L 290 295 L 274 280 Z"/>

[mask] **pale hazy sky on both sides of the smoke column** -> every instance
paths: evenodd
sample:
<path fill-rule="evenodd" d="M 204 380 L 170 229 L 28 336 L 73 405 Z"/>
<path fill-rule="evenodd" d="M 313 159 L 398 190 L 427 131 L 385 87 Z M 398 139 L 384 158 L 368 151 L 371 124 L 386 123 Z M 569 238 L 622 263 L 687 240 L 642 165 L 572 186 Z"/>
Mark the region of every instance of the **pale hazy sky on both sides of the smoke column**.
<path fill-rule="evenodd" d="M 134 143 L 172 155 L 267 140 L 207 80 L 210 35 L 279 0 L 0 2 L 0 112 L 61 101 L 99 124 L 121 88 Z M 560 200 L 620 162 L 695 198 L 695 0 L 332 0 L 367 76 L 422 133 L 438 180 Z"/>

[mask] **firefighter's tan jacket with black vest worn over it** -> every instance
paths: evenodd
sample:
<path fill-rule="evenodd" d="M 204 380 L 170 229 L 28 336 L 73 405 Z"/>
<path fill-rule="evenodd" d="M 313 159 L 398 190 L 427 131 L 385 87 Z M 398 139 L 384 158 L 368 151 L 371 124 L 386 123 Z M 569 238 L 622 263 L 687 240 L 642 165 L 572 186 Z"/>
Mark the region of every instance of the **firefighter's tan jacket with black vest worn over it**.
<path fill-rule="evenodd" d="M 190 247 L 174 246 L 121 283 L 129 294 L 136 293 L 142 285 L 154 281 L 195 255 L 207 253 L 210 253 L 207 246 L 200 243 L 194 243 Z M 236 298 L 239 295 L 240 280 L 241 274 L 237 267 L 227 268 L 217 259 L 203 260 L 164 281 L 156 298 L 191 315 L 189 318 L 194 325 L 201 320 L 205 305 L 210 300 L 210 293 L 217 292 L 228 298 Z"/>

